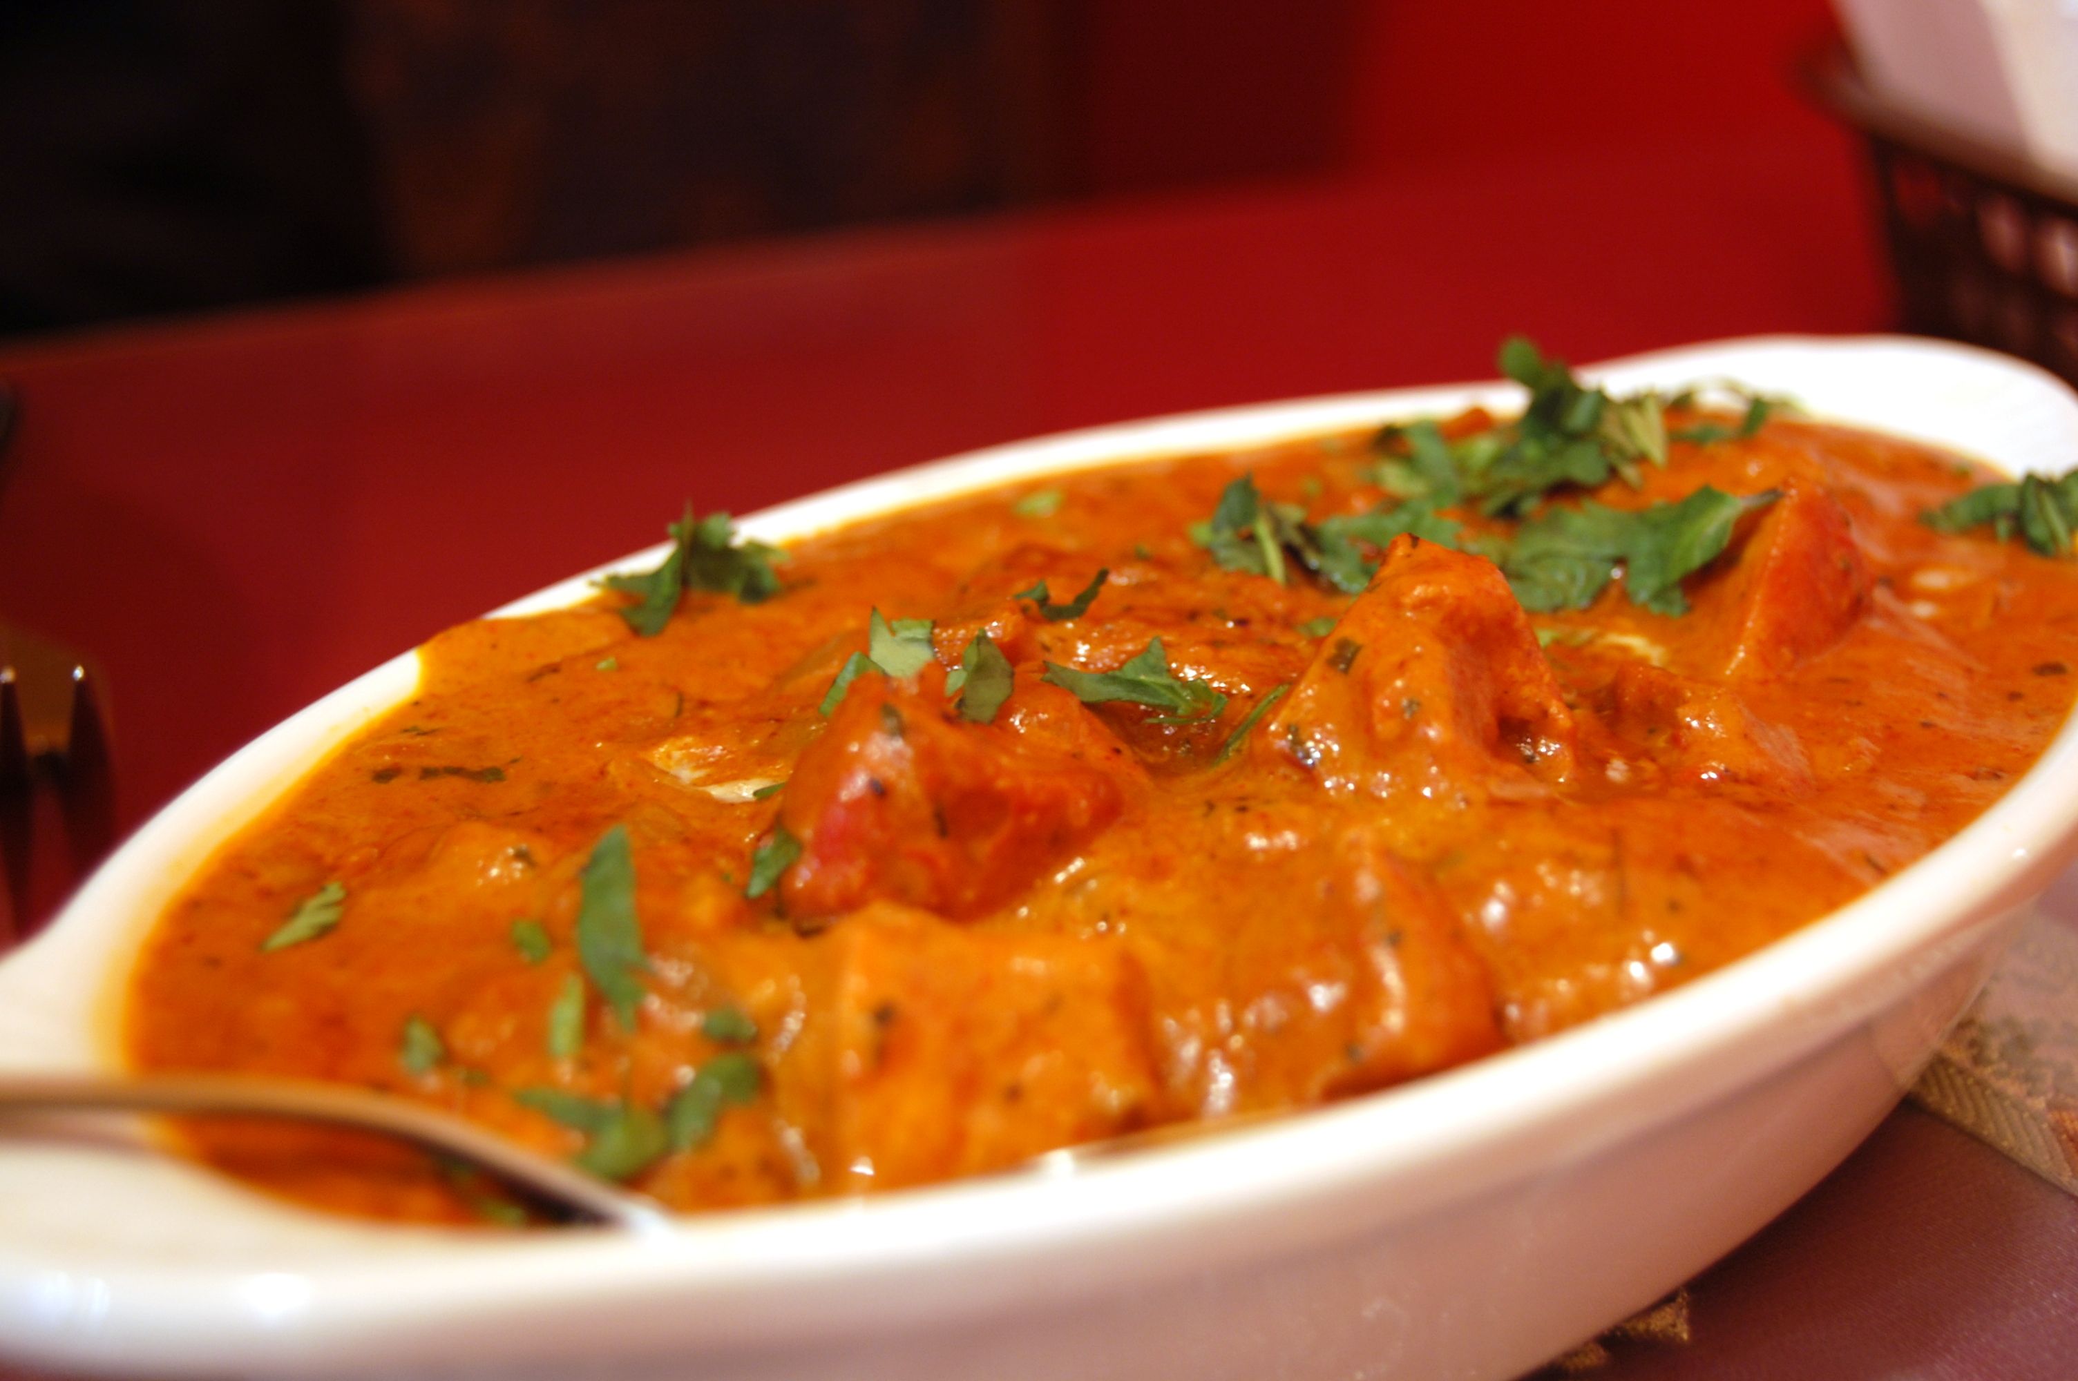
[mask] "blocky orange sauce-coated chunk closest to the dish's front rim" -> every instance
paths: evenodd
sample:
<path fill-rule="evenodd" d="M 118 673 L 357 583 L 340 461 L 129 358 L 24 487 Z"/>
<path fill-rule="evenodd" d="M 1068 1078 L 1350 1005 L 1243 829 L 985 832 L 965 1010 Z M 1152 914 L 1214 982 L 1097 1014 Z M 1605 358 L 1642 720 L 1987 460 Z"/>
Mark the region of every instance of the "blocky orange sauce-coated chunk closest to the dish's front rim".
<path fill-rule="evenodd" d="M 997 1169 L 1155 1103 L 1145 984 L 1116 941 L 875 903 L 802 945 L 827 986 L 775 1082 L 831 1190 Z"/>

